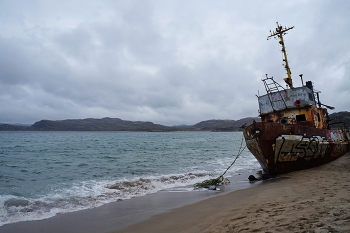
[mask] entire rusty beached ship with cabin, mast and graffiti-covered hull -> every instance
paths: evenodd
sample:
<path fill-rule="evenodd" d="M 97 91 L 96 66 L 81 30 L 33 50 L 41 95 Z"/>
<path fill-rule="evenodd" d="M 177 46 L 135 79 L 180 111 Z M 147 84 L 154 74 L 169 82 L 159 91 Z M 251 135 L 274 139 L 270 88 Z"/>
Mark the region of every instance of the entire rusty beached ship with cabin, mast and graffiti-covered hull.
<path fill-rule="evenodd" d="M 257 96 L 261 122 L 243 130 L 247 147 L 266 176 L 316 167 L 349 151 L 349 129 L 340 122 L 331 123 L 327 108 L 334 108 L 320 102 L 320 91 L 311 81 L 304 85 L 303 75 L 299 75 L 301 86 L 293 86 L 283 38 L 293 28 L 277 23 L 276 30 L 270 31 L 267 39 L 277 39 L 281 47 L 286 86 L 268 75 L 262 79 L 266 94 Z M 331 130 L 332 124 L 338 128 Z"/>

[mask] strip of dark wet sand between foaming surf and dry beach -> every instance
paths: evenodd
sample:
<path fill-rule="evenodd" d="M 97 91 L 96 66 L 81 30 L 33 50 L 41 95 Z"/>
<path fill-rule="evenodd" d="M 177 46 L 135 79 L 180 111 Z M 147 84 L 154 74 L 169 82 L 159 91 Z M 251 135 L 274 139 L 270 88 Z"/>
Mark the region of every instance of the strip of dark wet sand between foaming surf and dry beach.
<path fill-rule="evenodd" d="M 108 203 L 92 209 L 58 214 L 47 219 L 5 224 L 0 226 L 0 232 L 95 233 L 115 231 L 181 206 L 191 205 L 211 197 L 259 185 L 260 183 L 258 182 L 248 181 L 248 176 L 252 173 L 255 172 L 247 172 L 230 177 L 231 183 L 220 187 L 220 191 L 162 190 L 141 197 Z M 254 175 L 259 176 L 258 173 Z M 188 190 L 188 188 L 185 189 Z"/>

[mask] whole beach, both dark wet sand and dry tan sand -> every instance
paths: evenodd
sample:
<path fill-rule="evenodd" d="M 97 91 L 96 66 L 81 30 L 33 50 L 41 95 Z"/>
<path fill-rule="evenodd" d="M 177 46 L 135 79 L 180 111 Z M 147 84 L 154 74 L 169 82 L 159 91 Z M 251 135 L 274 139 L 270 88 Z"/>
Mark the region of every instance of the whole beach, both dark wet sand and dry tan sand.
<path fill-rule="evenodd" d="M 55 217 L 8 224 L 6 232 L 350 232 L 350 153 L 320 167 L 221 192 L 161 191 Z M 238 188 L 239 190 L 234 191 Z"/>

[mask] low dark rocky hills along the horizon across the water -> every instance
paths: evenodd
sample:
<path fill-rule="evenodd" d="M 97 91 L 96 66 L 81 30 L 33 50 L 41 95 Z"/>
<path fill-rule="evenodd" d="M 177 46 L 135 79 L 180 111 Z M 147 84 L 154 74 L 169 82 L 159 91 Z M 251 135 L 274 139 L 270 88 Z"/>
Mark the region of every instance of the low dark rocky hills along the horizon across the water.
<path fill-rule="evenodd" d="M 338 112 L 329 115 L 330 124 L 345 122 L 350 126 L 350 112 Z M 230 132 L 242 131 L 243 125 L 250 125 L 253 121 L 259 122 L 259 117 L 247 117 L 240 120 L 207 120 L 195 125 L 164 126 L 149 121 L 126 121 L 119 118 L 102 119 L 75 119 L 75 120 L 41 120 L 32 126 L 0 124 L 0 131 L 215 131 Z M 341 124 L 331 125 L 336 129 Z"/>

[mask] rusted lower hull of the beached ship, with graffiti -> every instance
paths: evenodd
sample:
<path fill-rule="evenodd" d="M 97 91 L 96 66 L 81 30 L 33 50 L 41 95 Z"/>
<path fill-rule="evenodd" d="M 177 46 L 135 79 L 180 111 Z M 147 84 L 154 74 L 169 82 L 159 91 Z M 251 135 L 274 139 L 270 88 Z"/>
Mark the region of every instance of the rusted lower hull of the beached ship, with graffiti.
<path fill-rule="evenodd" d="M 349 151 L 349 135 L 303 124 L 254 123 L 243 131 L 264 173 L 282 174 L 329 163 Z"/>

